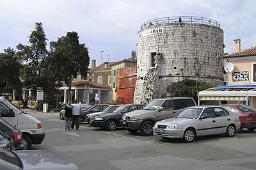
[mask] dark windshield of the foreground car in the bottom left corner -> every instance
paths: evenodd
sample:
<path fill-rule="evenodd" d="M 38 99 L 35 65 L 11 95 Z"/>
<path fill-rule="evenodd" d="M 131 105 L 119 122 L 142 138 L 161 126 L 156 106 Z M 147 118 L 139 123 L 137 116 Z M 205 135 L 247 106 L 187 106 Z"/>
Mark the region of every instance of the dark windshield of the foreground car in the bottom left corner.
<path fill-rule="evenodd" d="M 11 151 L 1 150 L 0 151 L 0 159 L 22 168 L 22 162 L 20 162 L 19 157 Z"/>

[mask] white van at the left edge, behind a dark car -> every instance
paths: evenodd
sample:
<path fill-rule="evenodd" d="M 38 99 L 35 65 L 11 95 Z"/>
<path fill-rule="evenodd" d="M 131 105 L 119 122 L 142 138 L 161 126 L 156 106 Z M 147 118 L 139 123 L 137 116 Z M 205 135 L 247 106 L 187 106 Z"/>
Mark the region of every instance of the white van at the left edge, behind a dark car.
<path fill-rule="evenodd" d="M 44 140 L 45 133 L 42 123 L 10 104 L 4 97 L 0 97 L 0 116 L 13 127 L 20 129 L 22 143 L 25 145 L 24 150 L 29 150 L 32 144 L 41 144 Z"/>

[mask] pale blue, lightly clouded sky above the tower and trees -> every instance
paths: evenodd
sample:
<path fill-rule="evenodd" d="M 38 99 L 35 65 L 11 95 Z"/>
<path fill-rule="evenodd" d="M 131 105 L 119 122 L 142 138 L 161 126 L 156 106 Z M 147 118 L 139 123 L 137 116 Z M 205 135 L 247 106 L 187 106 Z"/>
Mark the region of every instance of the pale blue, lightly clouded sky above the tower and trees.
<path fill-rule="evenodd" d="M 255 6 L 255 0 L 0 0 L 0 52 L 28 45 L 35 22 L 42 22 L 47 43 L 76 31 L 100 65 L 101 56 L 103 62 L 130 58 L 144 22 L 188 15 L 220 22 L 230 53 L 237 38 L 242 50 L 256 46 Z"/>

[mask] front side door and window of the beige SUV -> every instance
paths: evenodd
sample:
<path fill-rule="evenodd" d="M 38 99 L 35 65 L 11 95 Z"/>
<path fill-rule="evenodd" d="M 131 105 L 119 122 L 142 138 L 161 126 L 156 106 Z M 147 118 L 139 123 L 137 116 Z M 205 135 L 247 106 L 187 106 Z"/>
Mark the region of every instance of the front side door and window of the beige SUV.
<path fill-rule="evenodd" d="M 172 118 L 173 116 L 173 110 L 174 110 L 174 106 L 173 106 L 173 100 L 165 100 L 163 102 L 163 104 L 160 105 L 160 107 L 163 107 L 162 111 L 157 111 L 156 113 L 156 121 L 160 121 L 160 120 L 166 120 L 168 118 Z M 160 108 L 159 107 L 159 108 Z"/>

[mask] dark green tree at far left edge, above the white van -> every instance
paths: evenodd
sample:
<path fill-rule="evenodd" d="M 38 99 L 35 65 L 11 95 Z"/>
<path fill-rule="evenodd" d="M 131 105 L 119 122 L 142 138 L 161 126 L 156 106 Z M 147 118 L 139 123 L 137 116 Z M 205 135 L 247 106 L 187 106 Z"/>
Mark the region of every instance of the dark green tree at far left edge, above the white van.
<path fill-rule="evenodd" d="M 0 54 L 0 86 L 11 92 L 13 89 L 24 104 L 22 97 L 22 82 L 20 80 L 20 69 L 22 68 L 22 59 L 15 55 L 15 50 L 8 47 L 4 53 Z"/>

